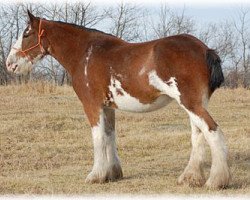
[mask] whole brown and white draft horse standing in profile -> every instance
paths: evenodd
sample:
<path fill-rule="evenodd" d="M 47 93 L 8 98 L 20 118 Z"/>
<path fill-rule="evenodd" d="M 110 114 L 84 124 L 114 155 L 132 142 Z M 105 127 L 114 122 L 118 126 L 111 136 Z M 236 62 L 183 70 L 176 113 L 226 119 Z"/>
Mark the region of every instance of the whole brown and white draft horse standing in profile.
<path fill-rule="evenodd" d="M 177 184 L 222 189 L 230 183 L 225 137 L 207 111 L 224 81 L 217 53 L 194 36 L 180 34 L 128 43 L 99 30 L 34 16 L 6 60 L 8 71 L 25 74 L 53 56 L 71 75 L 91 126 L 94 164 L 86 183 L 123 177 L 115 138 L 115 110 L 150 112 L 172 100 L 191 124 L 192 151 Z M 204 142 L 210 146 L 209 178 L 203 172 Z"/>

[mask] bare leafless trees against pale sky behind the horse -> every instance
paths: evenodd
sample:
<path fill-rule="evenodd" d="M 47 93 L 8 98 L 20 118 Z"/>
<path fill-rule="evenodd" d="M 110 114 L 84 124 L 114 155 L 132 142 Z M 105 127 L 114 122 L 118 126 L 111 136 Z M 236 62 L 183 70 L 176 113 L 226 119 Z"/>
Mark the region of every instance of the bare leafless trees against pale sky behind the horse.
<path fill-rule="evenodd" d="M 78 3 L 17 3 L 0 6 L 0 85 L 32 80 L 46 80 L 58 85 L 70 84 L 71 78 L 52 57 L 38 63 L 31 74 L 13 76 L 6 71 L 5 60 L 13 42 L 27 23 L 27 9 L 36 16 L 101 29 L 129 42 L 148 41 L 170 35 L 188 33 L 216 49 L 223 62 L 224 86 L 250 87 L 250 11 L 235 8 L 235 17 L 223 22 L 199 24 L 167 4 L 157 12 L 143 5 L 118 3 L 113 6 Z"/>

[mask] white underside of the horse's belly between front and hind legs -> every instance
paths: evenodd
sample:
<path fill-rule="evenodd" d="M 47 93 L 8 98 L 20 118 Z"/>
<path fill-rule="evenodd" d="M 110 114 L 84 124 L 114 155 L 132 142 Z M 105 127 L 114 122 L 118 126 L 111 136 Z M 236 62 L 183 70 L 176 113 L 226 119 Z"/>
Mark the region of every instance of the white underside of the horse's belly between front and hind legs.
<path fill-rule="evenodd" d="M 167 95 L 158 97 L 150 104 L 141 103 L 135 97 L 129 95 L 117 96 L 114 98 L 114 103 L 119 110 L 130 112 L 150 112 L 166 106 L 171 101 Z"/>

